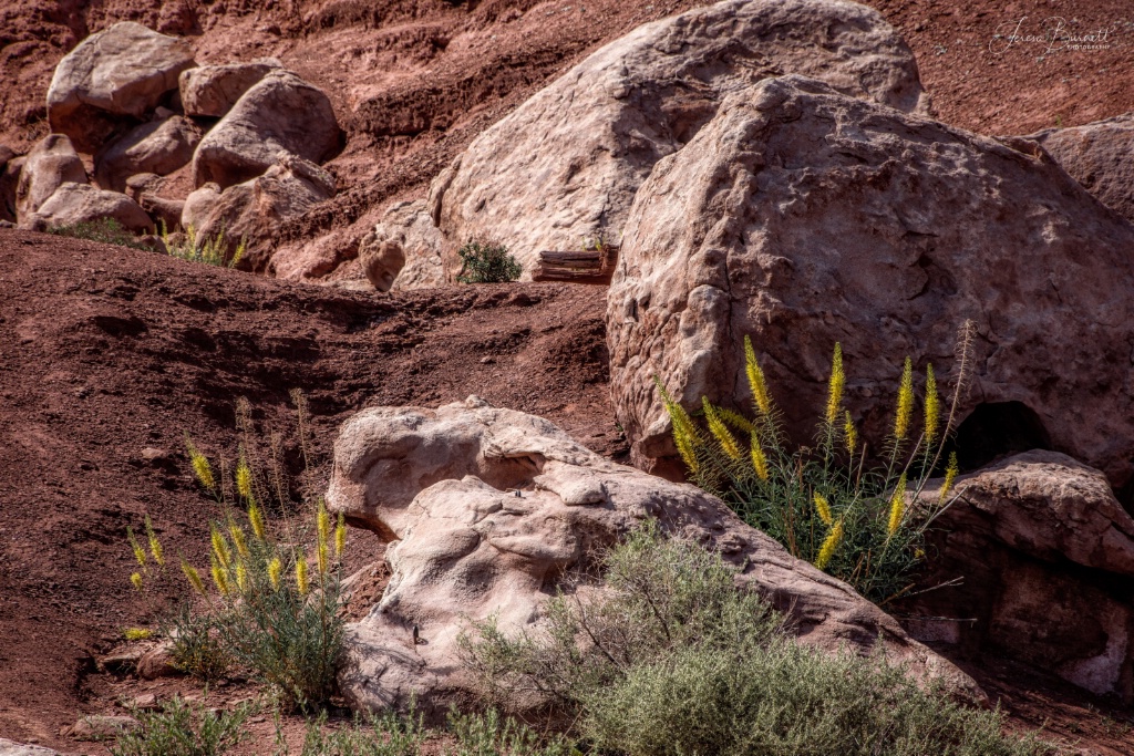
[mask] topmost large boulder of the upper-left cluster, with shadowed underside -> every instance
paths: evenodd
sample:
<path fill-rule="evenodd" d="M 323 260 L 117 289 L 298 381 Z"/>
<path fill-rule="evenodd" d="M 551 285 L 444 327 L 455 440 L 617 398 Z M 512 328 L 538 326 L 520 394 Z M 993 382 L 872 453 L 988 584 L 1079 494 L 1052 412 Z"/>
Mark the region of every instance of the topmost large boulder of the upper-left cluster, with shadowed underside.
<path fill-rule="evenodd" d="M 124 120 L 142 119 L 177 88 L 177 77 L 196 63 L 177 37 L 122 22 L 92 34 L 56 67 L 48 90 L 51 130 L 94 152 Z"/>

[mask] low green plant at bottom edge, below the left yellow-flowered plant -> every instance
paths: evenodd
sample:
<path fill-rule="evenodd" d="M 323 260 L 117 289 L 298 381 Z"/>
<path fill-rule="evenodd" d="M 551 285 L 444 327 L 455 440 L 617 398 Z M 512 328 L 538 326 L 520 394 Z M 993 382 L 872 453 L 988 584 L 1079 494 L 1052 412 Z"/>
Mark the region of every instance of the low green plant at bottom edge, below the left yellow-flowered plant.
<path fill-rule="evenodd" d="M 246 704 L 231 712 L 215 712 L 174 696 L 156 712 L 134 712 L 138 728 L 119 736 L 110 753 L 113 756 L 221 756 L 244 739 L 240 727 L 251 712 Z"/>

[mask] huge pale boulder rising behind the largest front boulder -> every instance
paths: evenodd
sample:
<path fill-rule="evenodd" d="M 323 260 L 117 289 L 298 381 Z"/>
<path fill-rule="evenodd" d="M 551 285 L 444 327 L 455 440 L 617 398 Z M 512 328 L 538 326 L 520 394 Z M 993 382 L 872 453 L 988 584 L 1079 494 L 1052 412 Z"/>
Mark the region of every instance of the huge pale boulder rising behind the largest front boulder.
<path fill-rule="evenodd" d="M 455 245 L 507 245 L 528 273 L 541 250 L 617 241 L 654 163 L 729 93 L 786 73 L 900 110 L 925 107 L 913 53 L 877 11 L 727 0 L 612 42 L 484 131 L 434 181 L 433 219 Z"/>

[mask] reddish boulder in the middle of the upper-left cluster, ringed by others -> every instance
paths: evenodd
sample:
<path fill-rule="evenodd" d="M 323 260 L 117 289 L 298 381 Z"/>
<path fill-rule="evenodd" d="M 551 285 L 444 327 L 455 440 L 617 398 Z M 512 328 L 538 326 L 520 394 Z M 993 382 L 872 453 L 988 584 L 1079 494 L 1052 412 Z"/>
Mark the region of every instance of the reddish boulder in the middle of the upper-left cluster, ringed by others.
<path fill-rule="evenodd" d="M 181 116 L 143 124 L 95 154 L 94 179 L 103 189 L 125 192 L 132 176 L 168 176 L 187 165 L 200 142 L 201 129 Z"/>

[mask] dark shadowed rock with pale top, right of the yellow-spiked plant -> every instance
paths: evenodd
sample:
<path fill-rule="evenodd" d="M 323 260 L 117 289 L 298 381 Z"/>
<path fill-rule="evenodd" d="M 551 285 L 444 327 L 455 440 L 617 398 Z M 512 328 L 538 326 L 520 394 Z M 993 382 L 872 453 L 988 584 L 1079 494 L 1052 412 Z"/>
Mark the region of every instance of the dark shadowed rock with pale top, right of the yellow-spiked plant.
<path fill-rule="evenodd" d="M 938 491 L 924 494 L 936 501 Z M 1106 476 L 1033 451 L 956 486 L 931 533 L 937 558 L 915 613 L 973 618 L 911 630 L 973 655 L 1007 653 L 1095 694 L 1134 698 L 1134 520 Z"/>

